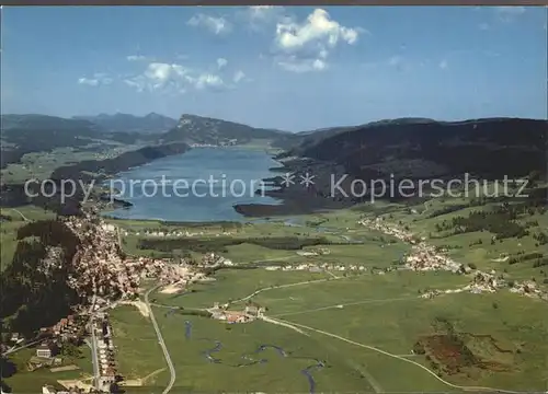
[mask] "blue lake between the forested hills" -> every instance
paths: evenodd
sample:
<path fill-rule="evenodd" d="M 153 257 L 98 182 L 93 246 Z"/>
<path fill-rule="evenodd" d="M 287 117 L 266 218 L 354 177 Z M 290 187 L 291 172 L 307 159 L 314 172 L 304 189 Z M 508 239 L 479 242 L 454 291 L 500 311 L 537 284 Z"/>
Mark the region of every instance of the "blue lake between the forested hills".
<path fill-rule="evenodd" d="M 194 148 L 119 173 L 110 181 L 117 198 L 132 202 L 110 217 L 165 221 L 246 221 L 237 204 L 277 205 L 258 195 L 261 179 L 278 175 L 279 166 L 263 151 L 239 148 Z M 267 187 L 265 188 L 267 189 Z"/>

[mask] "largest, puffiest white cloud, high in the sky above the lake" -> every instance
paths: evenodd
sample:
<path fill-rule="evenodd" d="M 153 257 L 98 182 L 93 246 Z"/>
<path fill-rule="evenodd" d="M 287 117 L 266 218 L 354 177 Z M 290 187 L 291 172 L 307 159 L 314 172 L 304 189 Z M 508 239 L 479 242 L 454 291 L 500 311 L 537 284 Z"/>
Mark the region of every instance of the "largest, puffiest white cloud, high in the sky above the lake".
<path fill-rule="evenodd" d="M 340 44 L 355 44 L 363 32 L 342 26 L 322 9 L 316 9 L 302 23 L 286 19 L 276 25 L 276 62 L 294 72 L 326 70 L 330 51 Z"/>

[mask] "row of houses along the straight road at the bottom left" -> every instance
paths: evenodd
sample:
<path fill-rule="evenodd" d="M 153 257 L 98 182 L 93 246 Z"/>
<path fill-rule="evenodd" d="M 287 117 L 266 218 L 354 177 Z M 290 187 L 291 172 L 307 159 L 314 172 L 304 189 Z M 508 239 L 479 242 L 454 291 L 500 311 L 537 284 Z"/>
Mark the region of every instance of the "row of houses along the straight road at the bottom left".
<path fill-rule="evenodd" d="M 116 355 L 112 337 L 112 327 L 109 315 L 100 313 L 93 321 L 92 329 L 96 338 L 98 363 L 99 363 L 99 387 L 110 392 L 111 384 L 116 382 Z"/>

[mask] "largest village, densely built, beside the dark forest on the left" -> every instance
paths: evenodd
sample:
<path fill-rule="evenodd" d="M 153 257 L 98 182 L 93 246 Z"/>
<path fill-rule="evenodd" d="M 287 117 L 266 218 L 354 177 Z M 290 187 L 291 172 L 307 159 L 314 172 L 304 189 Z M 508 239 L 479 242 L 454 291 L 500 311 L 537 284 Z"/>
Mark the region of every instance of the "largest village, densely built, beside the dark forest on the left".
<path fill-rule="evenodd" d="M 67 267 L 67 283 L 83 302 L 75 305 L 73 313 L 54 326 L 42 327 L 35 338 L 12 333 L 11 347 L 3 347 L 2 354 L 36 344 L 35 355 L 26 363 L 27 371 L 48 368 L 55 373 L 79 370 L 66 360 L 75 359 L 78 346 L 85 344 L 92 351 L 94 374 L 91 384 L 62 382 L 67 391 L 56 392 L 52 386 L 44 386 L 43 393 L 110 393 L 111 386 L 123 376 L 117 371 L 115 338 L 105 311 L 118 303 L 138 303 L 144 280 L 184 287 L 204 279 L 205 275 L 192 269 L 184 259 L 126 256 L 118 244 L 117 228 L 104 222 L 93 210 L 84 212 L 83 217 L 62 220 L 79 240 L 79 248 Z M 59 268 L 62 264 L 60 248 L 52 247 L 47 252 L 41 268 Z"/>

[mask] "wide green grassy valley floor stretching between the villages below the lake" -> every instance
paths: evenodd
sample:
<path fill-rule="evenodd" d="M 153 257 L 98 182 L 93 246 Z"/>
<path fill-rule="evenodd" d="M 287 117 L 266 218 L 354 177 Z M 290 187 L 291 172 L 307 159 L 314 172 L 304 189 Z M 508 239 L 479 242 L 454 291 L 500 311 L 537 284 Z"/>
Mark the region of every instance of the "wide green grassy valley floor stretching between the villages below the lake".
<path fill-rule="evenodd" d="M 214 302 L 228 301 L 235 301 L 230 309 L 241 309 L 251 300 L 266 306 L 267 316 L 293 324 L 294 328 L 300 327 L 308 334 L 261 321 L 226 325 L 183 314 L 182 311 L 168 314 L 167 309 L 155 306 L 155 315 L 176 370 L 174 392 L 309 392 L 309 382 L 301 371 L 312 366 L 315 359 L 327 361 L 326 368 L 312 372 L 319 392 L 461 391 L 450 384 L 546 391 L 546 302 L 513 294 L 506 289 L 492 294 L 449 293 L 429 300 L 419 296 L 425 290 L 461 288 L 470 282 L 471 277 L 445 271 L 372 274 L 372 268 L 397 265 L 410 250 L 409 245 L 357 223 L 364 216 L 381 215 L 387 221 L 426 237 L 429 243 L 447 247 L 450 256 L 459 263 L 473 264 L 482 270 L 495 269 L 507 279 L 535 278 L 539 286 L 544 286 L 547 267 L 533 267 L 530 262 L 510 264 L 501 257 L 515 256 L 521 251 L 548 252 L 546 245 L 539 245 L 533 239 L 534 234 L 547 229 L 548 216 L 534 212 L 518 217 L 516 222 L 528 225 L 529 234 L 494 243 L 489 231 L 458 235 L 439 231 L 444 221 L 450 222 L 453 218 L 468 217 L 475 210 L 495 207 L 489 204 L 460 208 L 468 202 L 468 199 L 459 198 L 435 199 L 409 207 L 379 202 L 297 218 L 254 220 L 240 227 L 230 223 L 109 221 L 129 232 L 123 235 L 123 242 L 124 248 L 132 254 L 160 253 L 153 248 L 138 248 L 139 241 L 146 239 L 144 232 L 147 230 L 189 231 L 203 234 L 193 236 L 193 242 L 196 242 L 189 243 L 189 248 L 180 247 L 179 252 L 199 250 L 196 245 L 202 243 L 218 248 L 221 252 L 217 253 L 242 266 L 261 262 L 265 265 L 328 263 L 367 268 L 350 275 L 347 270 L 313 274 L 263 268 L 220 269 L 213 276 L 214 280 L 192 285 L 182 294 L 155 292 L 150 297 L 155 303 L 183 309 L 210 308 Z M 432 212 L 452 206 L 458 209 L 431 217 Z M 21 211 L 36 218 L 43 215 L 32 209 Z M 14 233 L 23 223 L 21 215 L 4 210 L 2 213 L 13 216 L 13 221 L 5 223 Z M 532 221 L 535 224 L 530 224 Z M 226 231 L 229 234 L 222 234 Z M 2 236 L 4 234 L 10 234 L 10 231 Z M 279 247 L 275 242 L 287 239 L 288 243 L 294 243 L 319 237 L 323 237 L 326 244 L 304 246 L 302 250 L 321 246 L 329 250 L 329 254 L 301 256 L 297 254 L 298 248 Z M 266 241 L 261 244 L 258 240 Z M 2 237 L 2 259 L 8 241 Z M 161 253 L 171 255 L 179 252 L 164 250 Z M 191 254 L 199 259 L 203 253 L 193 250 Z M 264 290 L 238 301 L 260 289 Z M 140 315 L 133 306 L 117 308 L 111 316 L 121 372 L 134 383 L 144 379 L 139 382 L 142 387 L 127 389 L 126 392 L 161 393 L 169 372 L 150 318 Z M 192 324 L 190 338 L 185 336 L 186 321 Z M 454 340 L 447 334 L 447 325 L 473 359 L 473 362 L 465 360 L 469 362 L 466 363 L 460 356 L 450 356 L 450 362 L 464 362 L 458 363 L 458 371 L 450 373 L 437 370 L 441 364 L 450 363 L 441 359 L 446 357 L 444 351 L 453 351 L 450 346 L 454 344 L 446 343 Z M 307 329 L 307 326 L 353 343 Z M 213 349 L 216 340 L 221 343 L 221 348 L 210 356 L 220 361 L 210 362 L 204 352 Z M 426 355 L 413 354 L 418 343 L 430 344 L 432 348 Z M 267 362 L 241 366 L 247 362 L 242 356 L 254 352 L 261 345 L 279 346 L 288 356 L 282 357 L 269 348 L 260 356 L 250 356 L 267 359 Z"/>

